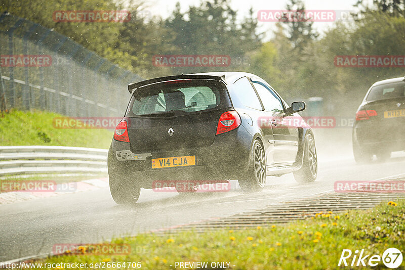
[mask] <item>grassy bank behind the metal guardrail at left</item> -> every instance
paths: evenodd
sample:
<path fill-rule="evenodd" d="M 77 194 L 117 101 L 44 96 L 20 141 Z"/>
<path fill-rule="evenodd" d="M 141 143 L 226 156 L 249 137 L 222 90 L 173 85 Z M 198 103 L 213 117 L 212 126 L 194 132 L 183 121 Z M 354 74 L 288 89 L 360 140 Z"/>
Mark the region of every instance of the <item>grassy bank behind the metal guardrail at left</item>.
<path fill-rule="evenodd" d="M 0 145 L 56 145 L 108 149 L 112 130 L 60 129 L 52 124 L 62 115 L 41 111 L 0 113 Z"/>

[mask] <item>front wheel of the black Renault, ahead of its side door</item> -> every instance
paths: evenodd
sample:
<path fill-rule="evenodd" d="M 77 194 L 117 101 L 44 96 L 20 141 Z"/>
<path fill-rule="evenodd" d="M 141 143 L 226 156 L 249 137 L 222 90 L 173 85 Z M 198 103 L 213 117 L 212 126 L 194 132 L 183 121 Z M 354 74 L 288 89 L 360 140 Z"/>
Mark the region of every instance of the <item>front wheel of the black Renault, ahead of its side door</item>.
<path fill-rule="evenodd" d="M 316 153 L 315 140 L 312 134 L 305 137 L 304 157 L 301 169 L 294 171 L 295 181 L 298 183 L 313 182 L 318 175 L 318 157 Z"/>

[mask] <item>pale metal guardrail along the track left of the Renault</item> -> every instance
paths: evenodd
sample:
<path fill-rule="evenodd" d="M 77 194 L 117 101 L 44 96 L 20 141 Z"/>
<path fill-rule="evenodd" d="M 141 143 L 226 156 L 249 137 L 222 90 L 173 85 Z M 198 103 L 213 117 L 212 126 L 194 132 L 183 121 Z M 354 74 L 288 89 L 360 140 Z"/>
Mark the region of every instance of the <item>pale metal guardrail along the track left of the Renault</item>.
<path fill-rule="evenodd" d="M 107 149 L 0 146 L 0 176 L 31 173 L 107 172 Z"/>

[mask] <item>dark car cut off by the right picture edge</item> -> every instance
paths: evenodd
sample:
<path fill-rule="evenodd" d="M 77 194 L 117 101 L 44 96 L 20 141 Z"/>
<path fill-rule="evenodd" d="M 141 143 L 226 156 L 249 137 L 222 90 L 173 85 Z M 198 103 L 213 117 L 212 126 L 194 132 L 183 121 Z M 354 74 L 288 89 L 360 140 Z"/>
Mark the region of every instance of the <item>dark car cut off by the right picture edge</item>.
<path fill-rule="evenodd" d="M 377 81 L 357 109 L 353 125 L 357 163 L 384 161 L 405 150 L 405 77 Z"/>

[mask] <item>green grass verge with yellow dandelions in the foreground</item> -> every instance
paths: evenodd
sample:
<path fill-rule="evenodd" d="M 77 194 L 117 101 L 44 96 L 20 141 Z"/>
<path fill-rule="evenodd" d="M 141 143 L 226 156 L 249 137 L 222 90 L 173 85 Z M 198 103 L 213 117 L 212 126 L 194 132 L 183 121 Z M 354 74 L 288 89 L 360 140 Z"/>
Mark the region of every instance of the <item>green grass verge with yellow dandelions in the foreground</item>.
<path fill-rule="evenodd" d="M 129 255 L 70 254 L 37 262 L 132 261 L 141 262 L 142 269 L 175 269 L 176 261 L 226 261 L 230 262 L 230 269 L 336 269 L 343 249 L 352 250 L 353 255 L 355 250 L 365 249 L 364 255 L 382 256 L 388 247 L 395 247 L 405 255 L 405 200 L 396 203 L 397 206 L 384 202 L 368 210 L 319 215 L 240 231 L 203 234 L 188 231 L 171 236 L 140 234 L 112 241 L 130 244 Z M 348 259 L 349 264 L 353 255 Z M 403 269 L 405 262 L 401 265 Z M 385 268 L 382 261 L 373 267 L 382 268 Z"/>

